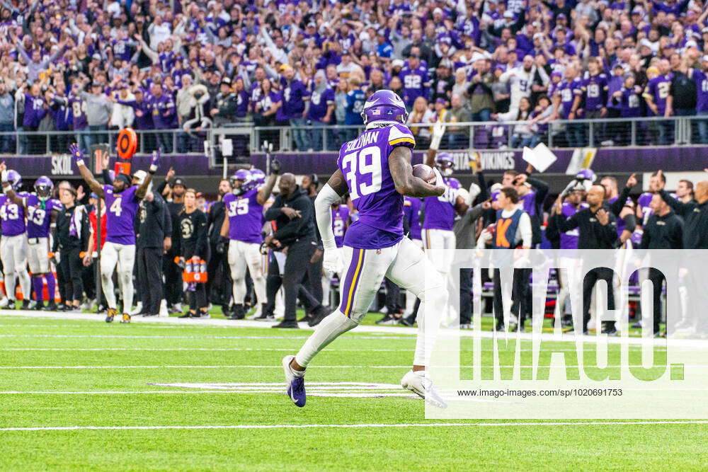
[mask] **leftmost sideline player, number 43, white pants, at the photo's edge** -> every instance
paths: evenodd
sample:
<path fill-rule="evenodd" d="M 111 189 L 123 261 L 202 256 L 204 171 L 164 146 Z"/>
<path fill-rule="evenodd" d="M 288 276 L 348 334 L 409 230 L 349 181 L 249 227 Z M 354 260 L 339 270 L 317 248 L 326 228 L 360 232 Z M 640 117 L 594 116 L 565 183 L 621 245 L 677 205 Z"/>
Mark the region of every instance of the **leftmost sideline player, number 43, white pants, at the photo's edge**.
<path fill-rule="evenodd" d="M 5 272 L 5 291 L 7 292 L 7 309 L 15 308 L 15 284 L 20 280 L 20 288 L 24 300 L 22 308 L 30 308 L 30 275 L 27 272 L 27 227 L 25 226 L 25 205 L 23 199 L 30 196 L 27 192 L 18 192 L 22 185 L 22 177 L 17 171 L 4 168 L 2 163 L 2 188 L 0 195 L 0 218 L 2 219 L 2 239 L 0 240 L 0 257 Z M 13 192 L 15 202 L 8 192 Z M 17 193 L 15 193 L 17 192 Z M 3 300 L 5 301 L 5 300 Z"/>

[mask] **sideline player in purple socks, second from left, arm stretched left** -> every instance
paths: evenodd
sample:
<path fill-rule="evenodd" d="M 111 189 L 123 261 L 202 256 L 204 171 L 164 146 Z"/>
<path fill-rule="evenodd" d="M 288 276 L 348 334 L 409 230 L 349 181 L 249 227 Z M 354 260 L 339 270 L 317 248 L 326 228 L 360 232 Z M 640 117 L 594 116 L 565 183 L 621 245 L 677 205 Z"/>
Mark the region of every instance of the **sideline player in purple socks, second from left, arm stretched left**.
<path fill-rule="evenodd" d="M 22 208 L 27 214 L 27 236 L 28 236 L 28 262 L 30 272 L 32 272 L 32 284 L 35 290 L 36 308 L 45 309 L 42 301 L 42 278 L 47 277 L 47 293 L 49 303 L 47 310 L 55 310 L 57 306 L 54 301 L 55 277 L 50 270 L 49 264 L 49 232 L 50 224 L 56 220 L 57 212 L 62 210 L 59 200 L 50 198 L 54 184 L 50 178 L 42 177 L 35 181 L 35 193 L 18 194 L 12 185 L 6 184 L 4 180 L 11 171 L 6 171 L 5 163 L 0 163 L 0 172 L 3 173 L 3 187 L 7 199 L 18 208 Z M 6 188 L 5 188 L 6 187 Z M 0 210 L 1 212 L 1 210 Z M 24 267 L 24 265 L 23 265 Z M 22 276 L 21 276 L 22 277 Z M 14 285 L 14 284 L 13 284 Z M 25 294 L 23 289 L 23 294 Z M 29 299 L 27 294 L 26 299 Z M 25 303 L 23 303 L 25 305 Z"/>

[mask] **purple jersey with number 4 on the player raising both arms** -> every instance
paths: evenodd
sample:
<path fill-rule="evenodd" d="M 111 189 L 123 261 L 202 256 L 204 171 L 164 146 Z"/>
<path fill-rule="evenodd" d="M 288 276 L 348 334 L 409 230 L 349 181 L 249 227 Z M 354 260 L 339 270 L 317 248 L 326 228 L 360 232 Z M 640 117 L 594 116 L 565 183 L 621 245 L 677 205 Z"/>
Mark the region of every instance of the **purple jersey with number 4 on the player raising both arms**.
<path fill-rule="evenodd" d="M 135 197 L 137 186 L 128 187 L 120 193 L 113 192 L 113 185 L 103 185 L 105 207 L 105 241 L 116 244 L 135 244 L 135 214 L 139 200 Z"/>

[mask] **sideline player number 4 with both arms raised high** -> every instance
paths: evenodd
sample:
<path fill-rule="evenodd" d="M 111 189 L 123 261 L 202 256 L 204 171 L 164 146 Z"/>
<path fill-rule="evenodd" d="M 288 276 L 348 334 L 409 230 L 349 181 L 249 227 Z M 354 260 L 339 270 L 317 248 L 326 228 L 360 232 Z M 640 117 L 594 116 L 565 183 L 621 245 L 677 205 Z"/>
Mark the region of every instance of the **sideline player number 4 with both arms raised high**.
<path fill-rule="evenodd" d="M 157 171 L 160 154 L 152 153 L 149 173 L 142 184 L 131 185 L 130 175 L 120 173 L 115 176 L 113 185 L 101 185 L 84 165 L 84 154 L 79 146 L 72 144 L 69 151 L 74 156 L 76 166 L 81 172 L 91 191 L 105 200 L 108 208 L 106 217 L 106 236 L 101 251 L 101 285 L 108 303 L 108 315 L 105 322 L 110 323 L 118 313 L 113 292 L 113 270 L 118 265 L 118 283 L 123 300 L 122 323 L 130 323 L 132 309 L 133 284 L 132 271 L 135 264 L 135 214 L 140 200 L 145 196 L 152 182 L 152 175 Z"/>

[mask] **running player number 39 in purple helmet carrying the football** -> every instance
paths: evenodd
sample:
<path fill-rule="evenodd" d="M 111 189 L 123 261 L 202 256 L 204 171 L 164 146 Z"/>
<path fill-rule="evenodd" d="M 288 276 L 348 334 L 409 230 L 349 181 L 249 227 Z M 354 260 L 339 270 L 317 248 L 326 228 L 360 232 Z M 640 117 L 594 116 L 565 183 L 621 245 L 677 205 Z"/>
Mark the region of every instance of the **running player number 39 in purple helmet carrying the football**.
<path fill-rule="evenodd" d="M 401 386 L 441 408 L 445 401 L 426 375 L 430 348 L 435 340 L 447 288 L 435 274 L 420 247 L 404 238 L 404 195 L 438 197 L 445 192 L 442 175 L 435 169 L 435 184 L 413 175 L 412 149 L 416 142 L 404 125 L 406 105 L 389 90 L 375 92 L 364 104 L 365 131 L 343 144 L 338 169 L 317 195 L 317 226 L 324 246 L 324 270 L 341 274 L 341 305 L 326 316 L 297 355 L 285 356 L 287 394 L 297 406 L 306 401 L 305 369 L 312 358 L 339 335 L 355 328 L 366 315 L 384 277 L 421 299 L 418 339 L 413 369 Z M 331 207 L 349 192 L 359 219 L 344 236 L 344 260 L 337 251 L 332 231 Z M 427 283 L 426 283 L 427 282 Z"/>

